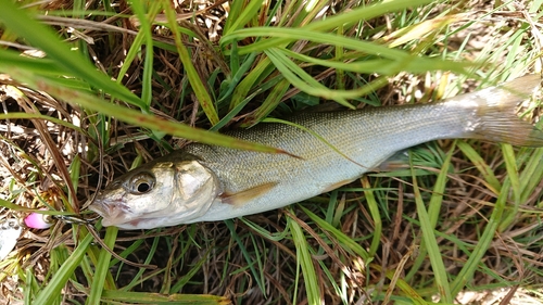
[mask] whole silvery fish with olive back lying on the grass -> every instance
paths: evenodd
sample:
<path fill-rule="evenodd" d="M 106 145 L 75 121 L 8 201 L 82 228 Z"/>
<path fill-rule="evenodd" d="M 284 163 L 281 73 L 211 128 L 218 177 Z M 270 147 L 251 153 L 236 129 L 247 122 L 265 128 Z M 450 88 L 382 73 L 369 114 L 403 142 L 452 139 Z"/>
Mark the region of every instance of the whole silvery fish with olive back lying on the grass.
<path fill-rule="evenodd" d="M 541 84 L 528 75 L 443 101 L 305 112 L 228 136 L 281 149 L 270 154 L 190 143 L 114 179 L 89 208 L 103 226 L 153 229 L 217 221 L 301 202 L 350 183 L 397 152 L 438 139 L 543 147 L 517 104 Z"/>

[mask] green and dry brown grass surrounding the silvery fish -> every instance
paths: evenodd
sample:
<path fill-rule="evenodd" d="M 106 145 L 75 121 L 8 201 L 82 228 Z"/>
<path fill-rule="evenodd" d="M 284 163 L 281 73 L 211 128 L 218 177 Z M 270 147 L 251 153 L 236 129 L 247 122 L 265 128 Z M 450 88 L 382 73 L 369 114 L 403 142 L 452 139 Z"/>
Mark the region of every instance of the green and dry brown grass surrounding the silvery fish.
<path fill-rule="evenodd" d="M 0 262 L 2 304 L 541 304 L 543 149 L 435 141 L 239 219 L 77 220 L 189 141 L 277 152 L 214 131 L 541 73 L 542 4 L 0 0 L 1 217 L 54 220 Z M 541 128 L 536 101 L 519 116 Z"/>

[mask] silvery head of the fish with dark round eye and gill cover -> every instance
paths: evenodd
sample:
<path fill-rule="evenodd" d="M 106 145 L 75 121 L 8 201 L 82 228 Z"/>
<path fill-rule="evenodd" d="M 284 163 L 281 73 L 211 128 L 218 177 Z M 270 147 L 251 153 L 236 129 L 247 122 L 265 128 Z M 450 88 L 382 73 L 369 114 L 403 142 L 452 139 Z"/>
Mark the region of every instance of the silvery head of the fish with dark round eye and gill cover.
<path fill-rule="evenodd" d="M 192 223 L 220 194 L 214 173 L 194 158 L 159 158 L 111 182 L 90 209 L 102 225 L 152 229 Z"/>

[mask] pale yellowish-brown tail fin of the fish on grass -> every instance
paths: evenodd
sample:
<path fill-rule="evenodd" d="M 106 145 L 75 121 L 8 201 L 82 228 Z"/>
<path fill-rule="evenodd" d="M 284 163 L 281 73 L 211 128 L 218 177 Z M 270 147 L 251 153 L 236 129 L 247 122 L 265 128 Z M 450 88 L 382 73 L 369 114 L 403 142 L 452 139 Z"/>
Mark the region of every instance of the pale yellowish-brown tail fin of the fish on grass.
<path fill-rule="evenodd" d="M 475 118 L 468 120 L 469 138 L 519 147 L 543 147 L 543 131 L 516 114 L 517 104 L 527 100 L 540 84 L 540 75 L 527 75 L 472 93 L 471 101 L 477 107 Z"/>

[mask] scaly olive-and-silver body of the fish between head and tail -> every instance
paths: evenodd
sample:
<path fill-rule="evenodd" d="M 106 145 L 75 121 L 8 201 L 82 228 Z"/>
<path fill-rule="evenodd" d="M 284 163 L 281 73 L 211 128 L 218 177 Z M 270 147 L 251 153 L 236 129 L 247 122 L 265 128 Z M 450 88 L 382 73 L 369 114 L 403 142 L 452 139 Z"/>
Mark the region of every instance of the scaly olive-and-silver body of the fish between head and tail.
<path fill-rule="evenodd" d="M 261 213 L 315 196 L 361 177 L 400 150 L 434 139 L 462 137 L 465 125 L 458 124 L 458 119 L 465 119 L 470 112 L 467 109 L 457 112 L 458 116 L 451 116 L 446 105 L 401 109 L 402 114 L 395 107 L 387 107 L 313 113 L 291 119 L 326 139 L 341 154 L 311 132 L 279 124 L 260 124 L 254 130 L 229 136 L 279 148 L 300 158 L 198 143 L 186 147 L 185 151 L 199 156 L 229 192 L 277 182 L 274 189 L 251 202 L 233 206 L 217 202 L 206 215 L 193 221 L 220 220 L 225 214 L 238 217 Z M 396 123 L 374 124 L 375 117 Z"/>

